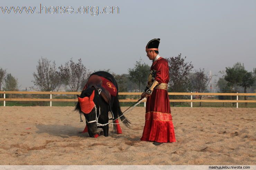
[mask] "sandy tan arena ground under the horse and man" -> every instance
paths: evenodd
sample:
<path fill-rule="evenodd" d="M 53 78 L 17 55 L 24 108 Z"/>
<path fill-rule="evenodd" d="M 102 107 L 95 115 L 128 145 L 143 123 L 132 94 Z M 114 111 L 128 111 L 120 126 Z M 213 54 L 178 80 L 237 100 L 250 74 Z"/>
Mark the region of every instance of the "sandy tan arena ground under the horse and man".
<path fill-rule="evenodd" d="M 123 107 L 125 110 L 127 107 Z M 1 165 L 255 165 L 256 108 L 172 107 L 175 143 L 140 141 L 145 108 L 131 129 L 89 138 L 73 107 L 0 107 Z M 84 120 L 84 118 L 83 118 Z"/>

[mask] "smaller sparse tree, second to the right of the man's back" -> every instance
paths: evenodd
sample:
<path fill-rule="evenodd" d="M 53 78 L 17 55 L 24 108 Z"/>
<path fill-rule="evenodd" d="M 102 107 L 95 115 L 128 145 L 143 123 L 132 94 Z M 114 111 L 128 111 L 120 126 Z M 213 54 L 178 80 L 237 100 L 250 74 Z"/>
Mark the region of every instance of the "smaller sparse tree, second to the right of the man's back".
<path fill-rule="evenodd" d="M 191 74 L 190 83 L 196 92 L 203 93 L 205 90 L 207 90 L 207 86 L 209 85 L 211 79 L 212 76 L 208 76 L 208 74 L 204 72 L 204 69 L 200 68 L 199 70 L 195 70 L 195 73 Z M 202 95 L 199 95 L 199 98 L 201 100 Z"/>

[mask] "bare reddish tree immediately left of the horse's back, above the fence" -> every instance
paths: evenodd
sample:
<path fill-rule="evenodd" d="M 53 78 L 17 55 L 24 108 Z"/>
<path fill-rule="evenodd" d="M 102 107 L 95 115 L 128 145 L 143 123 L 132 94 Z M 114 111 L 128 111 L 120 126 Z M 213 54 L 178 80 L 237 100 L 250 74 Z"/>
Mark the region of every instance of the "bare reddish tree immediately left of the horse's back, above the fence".
<path fill-rule="evenodd" d="M 83 83 L 91 74 L 83 65 L 81 58 L 77 63 L 71 58 L 64 66 L 61 65 L 59 69 L 59 74 L 63 83 L 68 85 L 71 91 L 77 91 L 82 88 L 85 85 Z"/>

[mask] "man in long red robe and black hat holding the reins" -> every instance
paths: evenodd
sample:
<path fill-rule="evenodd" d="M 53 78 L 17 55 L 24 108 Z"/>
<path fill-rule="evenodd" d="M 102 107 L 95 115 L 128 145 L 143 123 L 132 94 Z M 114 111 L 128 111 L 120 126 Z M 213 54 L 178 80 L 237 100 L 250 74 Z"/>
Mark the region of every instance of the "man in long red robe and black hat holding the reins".
<path fill-rule="evenodd" d="M 141 94 L 141 98 L 147 97 L 147 102 L 145 127 L 140 140 L 154 141 L 155 145 L 176 142 L 167 92 L 169 66 L 167 60 L 158 54 L 159 43 L 160 39 L 153 39 L 146 46 L 147 57 L 153 63 L 147 87 Z"/>

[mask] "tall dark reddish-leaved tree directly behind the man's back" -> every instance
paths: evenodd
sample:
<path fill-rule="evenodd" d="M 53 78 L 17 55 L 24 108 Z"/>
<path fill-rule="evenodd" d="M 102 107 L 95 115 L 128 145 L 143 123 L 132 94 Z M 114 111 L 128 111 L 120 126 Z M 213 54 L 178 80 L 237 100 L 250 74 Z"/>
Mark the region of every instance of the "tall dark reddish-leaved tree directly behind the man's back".
<path fill-rule="evenodd" d="M 179 54 L 177 57 L 168 58 L 169 64 L 169 90 L 171 92 L 187 92 L 189 88 L 188 75 L 193 68 L 191 62 L 185 62 L 185 58 Z M 173 95 L 173 99 L 175 96 Z M 174 102 L 173 102 L 174 106 Z"/>

